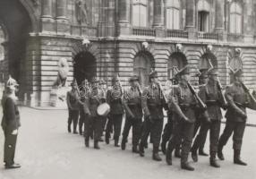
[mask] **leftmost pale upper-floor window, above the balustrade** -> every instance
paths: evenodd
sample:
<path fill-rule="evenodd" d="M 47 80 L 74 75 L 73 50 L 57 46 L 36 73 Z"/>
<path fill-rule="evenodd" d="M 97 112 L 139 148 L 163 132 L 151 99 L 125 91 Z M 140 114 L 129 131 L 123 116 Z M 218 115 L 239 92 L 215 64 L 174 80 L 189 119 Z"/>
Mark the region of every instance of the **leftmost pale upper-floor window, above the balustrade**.
<path fill-rule="evenodd" d="M 132 25 L 147 27 L 148 0 L 132 0 Z"/>

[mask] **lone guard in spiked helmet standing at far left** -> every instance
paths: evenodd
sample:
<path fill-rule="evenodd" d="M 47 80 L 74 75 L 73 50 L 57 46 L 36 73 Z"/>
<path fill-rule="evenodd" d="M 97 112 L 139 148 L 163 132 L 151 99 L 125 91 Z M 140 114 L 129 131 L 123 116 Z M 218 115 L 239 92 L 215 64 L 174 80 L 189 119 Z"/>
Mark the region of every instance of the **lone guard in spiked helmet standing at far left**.
<path fill-rule="evenodd" d="M 17 82 L 10 76 L 6 82 L 4 97 L 2 99 L 3 119 L 2 128 L 4 130 L 4 163 L 5 168 L 19 168 L 19 164 L 14 163 L 16 141 L 18 129 L 21 126 L 20 113 L 17 106 L 15 90 Z"/>

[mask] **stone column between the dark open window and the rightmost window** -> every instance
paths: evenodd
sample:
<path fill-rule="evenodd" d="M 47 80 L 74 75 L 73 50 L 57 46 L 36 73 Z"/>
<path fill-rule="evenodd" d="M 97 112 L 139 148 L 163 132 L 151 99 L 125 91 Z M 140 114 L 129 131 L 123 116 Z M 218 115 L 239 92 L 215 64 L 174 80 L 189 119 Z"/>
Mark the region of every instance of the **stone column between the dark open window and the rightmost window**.
<path fill-rule="evenodd" d="M 215 4 L 215 31 L 223 32 L 224 31 L 224 1 L 216 0 Z"/>

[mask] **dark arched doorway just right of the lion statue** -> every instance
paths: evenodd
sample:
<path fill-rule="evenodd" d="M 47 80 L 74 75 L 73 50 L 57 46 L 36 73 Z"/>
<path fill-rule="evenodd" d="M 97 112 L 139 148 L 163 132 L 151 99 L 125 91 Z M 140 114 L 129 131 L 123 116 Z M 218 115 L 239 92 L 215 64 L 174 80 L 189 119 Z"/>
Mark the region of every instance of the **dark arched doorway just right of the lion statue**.
<path fill-rule="evenodd" d="M 85 79 L 91 81 L 97 74 L 96 58 L 90 52 L 81 52 L 74 57 L 73 76 L 81 84 Z"/>

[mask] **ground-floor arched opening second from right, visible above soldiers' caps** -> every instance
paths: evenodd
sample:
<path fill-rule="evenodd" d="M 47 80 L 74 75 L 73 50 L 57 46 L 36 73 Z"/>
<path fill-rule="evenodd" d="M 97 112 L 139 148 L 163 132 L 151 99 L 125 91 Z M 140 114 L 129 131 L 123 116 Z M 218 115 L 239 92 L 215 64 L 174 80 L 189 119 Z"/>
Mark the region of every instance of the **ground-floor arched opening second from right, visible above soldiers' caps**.
<path fill-rule="evenodd" d="M 201 61 L 199 62 L 199 69 L 209 69 L 209 62 L 213 65 L 214 68 L 218 69 L 217 57 L 212 53 L 205 53 L 201 56 Z"/>

